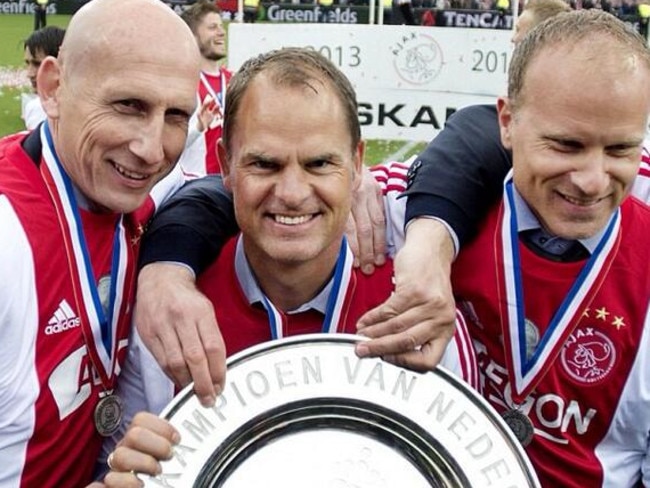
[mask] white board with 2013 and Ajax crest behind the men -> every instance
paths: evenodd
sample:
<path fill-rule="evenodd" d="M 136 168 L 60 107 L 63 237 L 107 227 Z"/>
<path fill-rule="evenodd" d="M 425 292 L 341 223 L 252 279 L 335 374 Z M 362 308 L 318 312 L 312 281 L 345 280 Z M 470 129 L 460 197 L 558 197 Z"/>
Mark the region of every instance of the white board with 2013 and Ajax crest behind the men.
<path fill-rule="evenodd" d="M 286 46 L 332 60 L 357 90 L 368 139 L 428 141 L 461 107 L 494 103 L 506 89 L 507 30 L 341 24 L 235 24 L 228 66 Z"/>

